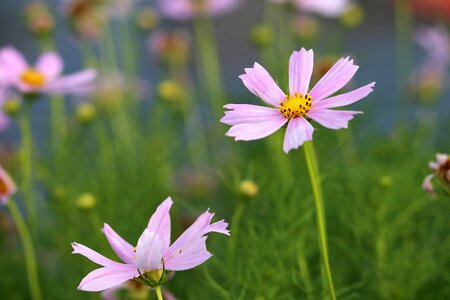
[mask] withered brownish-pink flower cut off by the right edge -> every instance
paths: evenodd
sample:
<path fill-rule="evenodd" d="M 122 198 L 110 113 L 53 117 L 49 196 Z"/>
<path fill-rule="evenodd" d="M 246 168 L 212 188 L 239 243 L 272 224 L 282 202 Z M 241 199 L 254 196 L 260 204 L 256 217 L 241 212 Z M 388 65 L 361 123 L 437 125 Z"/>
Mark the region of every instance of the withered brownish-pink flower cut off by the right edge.
<path fill-rule="evenodd" d="M 432 181 L 436 178 L 440 181 L 442 188 L 450 195 L 450 156 L 438 153 L 436 154 L 436 161 L 431 161 L 428 166 L 433 173 L 425 177 L 422 188 L 428 193 L 433 193 Z"/>

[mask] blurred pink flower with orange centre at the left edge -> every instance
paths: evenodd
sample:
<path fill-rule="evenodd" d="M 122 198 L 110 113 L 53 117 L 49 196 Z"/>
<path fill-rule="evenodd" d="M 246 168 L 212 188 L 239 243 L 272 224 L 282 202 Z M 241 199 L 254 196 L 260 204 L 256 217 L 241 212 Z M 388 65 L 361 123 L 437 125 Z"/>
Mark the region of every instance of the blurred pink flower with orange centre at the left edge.
<path fill-rule="evenodd" d="M 34 66 L 13 47 L 0 49 L 0 65 L 5 83 L 19 92 L 44 94 L 86 93 L 96 77 L 96 71 L 87 69 L 68 76 L 61 76 L 64 63 L 54 52 L 45 52 Z"/>

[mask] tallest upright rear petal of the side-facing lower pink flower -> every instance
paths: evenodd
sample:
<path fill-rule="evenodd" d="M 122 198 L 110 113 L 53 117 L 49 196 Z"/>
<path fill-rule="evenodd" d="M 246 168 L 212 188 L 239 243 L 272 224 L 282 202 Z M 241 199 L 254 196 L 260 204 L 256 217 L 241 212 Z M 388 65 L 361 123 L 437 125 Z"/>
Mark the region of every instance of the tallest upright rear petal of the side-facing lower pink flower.
<path fill-rule="evenodd" d="M 170 207 L 173 201 L 170 197 L 164 200 L 148 222 L 147 229 L 150 232 L 156 232 L 162 241 L 162 250 L 164 252 L 170 245 Z"/>

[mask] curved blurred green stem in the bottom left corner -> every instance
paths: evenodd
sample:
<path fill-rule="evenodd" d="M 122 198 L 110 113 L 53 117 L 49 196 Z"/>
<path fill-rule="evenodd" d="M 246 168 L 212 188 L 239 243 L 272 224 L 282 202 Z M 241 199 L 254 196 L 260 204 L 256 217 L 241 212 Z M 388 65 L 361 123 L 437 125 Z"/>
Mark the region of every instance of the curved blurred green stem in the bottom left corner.
<path fill-rule="evenodd" d="M 33 241 L 31 240 L 30 232 L 28 231 L 27 225 L 20 214 L 19 209 L 13 199 L 8 201 L 8 208 L 11 212 L 11 216 L 14 223 L 19 230 L 19 235 L 22 240 L 23 249 L 25 252 L 25 264 L 27 268 L 27 278 L 30 287 L 31 297 L 33 300 L 41 300 L 41 290 L 39 288 L 38 271 L 36 265 L 36 258 L 33 249 Z"/>

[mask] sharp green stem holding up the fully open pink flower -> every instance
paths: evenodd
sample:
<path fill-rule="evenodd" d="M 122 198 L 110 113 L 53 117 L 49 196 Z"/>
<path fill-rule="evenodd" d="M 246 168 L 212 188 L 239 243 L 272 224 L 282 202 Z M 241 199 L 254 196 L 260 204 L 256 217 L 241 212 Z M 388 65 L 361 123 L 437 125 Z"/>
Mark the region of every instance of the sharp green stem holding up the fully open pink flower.
<path fill-rule="evenodd" d="M 330 263 L 328 261 L 327 232 L 325 224 L 325 213 L 323 208 L 323 196 L 319 174 L 319 166 L 317 163 L 317 157 L 314 151 L 313 143 L 306 142 L 303 146 L 303 149 L 305 151 L 306 165 L 308 167 L 309 178 L 311 181 L 311 187 L 314 194 L 314 204 L 316 206 L 317 229 L 319 232 L 319 245 L 320 245 L 320 252 L 322 254 L 322 263 L 325 269 L 325 276 L 327 279 L 328 290 L 330 292 L 330 298 L 332 300 L 336 300 L 336 293 L 334 291 Z"/>

